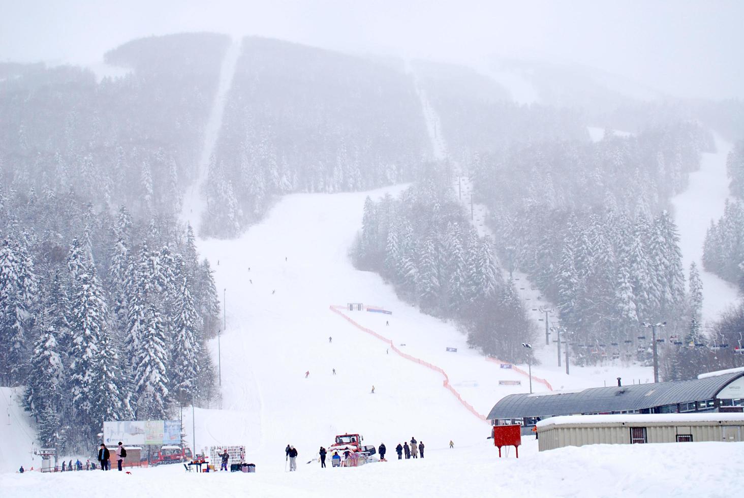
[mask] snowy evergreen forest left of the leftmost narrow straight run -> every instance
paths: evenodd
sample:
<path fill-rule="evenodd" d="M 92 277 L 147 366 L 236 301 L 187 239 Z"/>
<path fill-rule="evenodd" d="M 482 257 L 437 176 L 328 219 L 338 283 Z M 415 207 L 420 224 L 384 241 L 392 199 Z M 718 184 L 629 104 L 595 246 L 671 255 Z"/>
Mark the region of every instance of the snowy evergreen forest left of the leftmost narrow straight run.
<path fill-rule="evenodd" d="M 106 60 L 131 71 L 100 82 L 1 65 L 0 383 L 27 386 L 42 446 L 73 452 L 104 420 L 219 396 L 214 281 L 173 213 L 227 42 L 130 42 Z"/>

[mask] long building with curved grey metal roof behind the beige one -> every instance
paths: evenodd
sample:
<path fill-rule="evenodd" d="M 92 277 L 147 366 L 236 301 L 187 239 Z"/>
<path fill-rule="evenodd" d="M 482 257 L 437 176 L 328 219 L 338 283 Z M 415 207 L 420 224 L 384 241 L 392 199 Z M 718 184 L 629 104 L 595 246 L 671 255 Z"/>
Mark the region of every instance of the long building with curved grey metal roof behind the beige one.
<path fill-rule="evenodd" d="M 744 371 L 693 380 L 509 395 L 488 415 L 494 424 L 534 424 L 557 415 L 742 411 Z"/>

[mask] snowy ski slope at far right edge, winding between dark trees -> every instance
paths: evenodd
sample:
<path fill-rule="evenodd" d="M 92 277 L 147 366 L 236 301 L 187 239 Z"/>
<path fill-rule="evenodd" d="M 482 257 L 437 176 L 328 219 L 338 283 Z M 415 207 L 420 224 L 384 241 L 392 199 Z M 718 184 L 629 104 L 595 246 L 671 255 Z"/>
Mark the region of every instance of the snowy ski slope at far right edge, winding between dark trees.
<path fill-rule="evenodd" d="M 702 268 L 705 232 L 711 226 L 711 220 L 718 221 L 722 217 L 725 201 L 729 197 L 726 158 L 734 147 L 719 135 L 714 134 L 713 138 L 716 152 L 702 154 L 700 169 L 690 173 L 687 190 L 672 199 L 685 272 L 693 261 L 700 269 L 704 322 L 716 319 L 722 310 L 734 304 L 738 298 L 736 286 Z"/>

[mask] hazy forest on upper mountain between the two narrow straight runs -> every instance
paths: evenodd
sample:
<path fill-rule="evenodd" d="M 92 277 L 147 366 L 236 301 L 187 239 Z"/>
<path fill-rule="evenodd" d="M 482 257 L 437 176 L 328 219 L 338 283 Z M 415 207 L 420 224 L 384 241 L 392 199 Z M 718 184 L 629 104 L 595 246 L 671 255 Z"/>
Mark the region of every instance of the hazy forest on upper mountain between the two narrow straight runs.
<path fill-rule="evenodd" d="M 402 68 L 247 37 L 209 169 L 205 234 L 233 237 L 292 192 L 414 178 L 429 141 Z"/>

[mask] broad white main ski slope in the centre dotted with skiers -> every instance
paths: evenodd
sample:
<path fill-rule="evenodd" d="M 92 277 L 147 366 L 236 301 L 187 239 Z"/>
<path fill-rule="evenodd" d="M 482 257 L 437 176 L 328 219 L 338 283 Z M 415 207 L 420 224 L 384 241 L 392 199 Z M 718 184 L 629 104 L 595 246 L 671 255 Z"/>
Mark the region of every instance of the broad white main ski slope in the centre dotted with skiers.
<path fill-rule="evenodd" d="M 226 444 L 231 435 L 260 459 L 280 457 L 288 443 L 307 455 L 344 431 L 360 432 L 371 444 L 397 444 L 411 435 L 432 448 L 451 438 L 482 441 L 487 424 L 444 389 L 442 374 L 396 354 L 330 310 L 335 304 L 391 310 L 344 313 L 406 354 L 443 368 L 481 414 L 501 396 L 525 389 L 498 386 L 500 379 L 521 379 L 525 386 L 526 379 L 469 350 L 454 326 L 403 304 L 379 275 L 353 269 L 348 250 L 366 195 L 287 196 L 243 237 L 199 242 L 225 295 L 227 327 L 219 339 L 226 412 L 197 411 L 198 426 L 200 417 L 210 419 L 196 429 L 197 447 Z M 217 356 L 216 340 L 211 348 Z M 185 425 L 190 432 L 190 421 Z"/>

